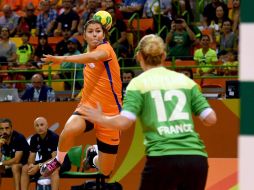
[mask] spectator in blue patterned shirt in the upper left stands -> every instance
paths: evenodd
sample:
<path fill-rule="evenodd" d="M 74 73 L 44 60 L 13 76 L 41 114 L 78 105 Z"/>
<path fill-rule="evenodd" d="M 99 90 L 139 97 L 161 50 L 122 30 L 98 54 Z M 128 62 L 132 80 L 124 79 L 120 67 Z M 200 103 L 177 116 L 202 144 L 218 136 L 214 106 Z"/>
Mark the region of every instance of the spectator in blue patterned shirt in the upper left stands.
<path fill-rule="evenodd" d="M 49 0 L 42 0 L 40 3 L 42 13 L 37 16 L 36 32 L 37 35 L 44 33 L 47 36 L 53 35 L 55 20 L 57 18 L 56 10 L 51 8 Z"/>

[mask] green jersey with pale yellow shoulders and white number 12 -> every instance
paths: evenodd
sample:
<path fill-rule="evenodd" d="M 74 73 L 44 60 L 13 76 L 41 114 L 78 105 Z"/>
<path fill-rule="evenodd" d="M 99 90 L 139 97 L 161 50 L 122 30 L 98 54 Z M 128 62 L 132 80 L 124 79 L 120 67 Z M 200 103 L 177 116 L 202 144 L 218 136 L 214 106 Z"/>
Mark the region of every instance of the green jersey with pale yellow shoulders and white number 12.
<path fill-rule="evenodd" d="M 207 156 L 192 113 L 210 106 L 193 80 L 157 67 L 132 79 L 126 90 L 121 114 L 140 118 L 147 155 Z"/>

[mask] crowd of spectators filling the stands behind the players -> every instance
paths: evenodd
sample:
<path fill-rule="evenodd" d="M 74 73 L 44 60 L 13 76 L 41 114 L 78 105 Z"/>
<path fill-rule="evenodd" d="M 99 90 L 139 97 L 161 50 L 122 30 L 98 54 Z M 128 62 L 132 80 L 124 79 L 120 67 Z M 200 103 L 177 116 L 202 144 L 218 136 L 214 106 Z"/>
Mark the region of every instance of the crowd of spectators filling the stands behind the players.
<path fill-rule="evenodd" d="M 165 40 L 168 61 L 193 60 L 194 75 L 237 75 L 240 0 L 204 1 L 198 7 L 195 0 L 40 0 L 1 1 L 0 16 L 0 69 L 27 72 L 0 72 L 2 87 L 25 89 L 33 74 L 43 69 L 43 54 L 73 55 L 86 51 L 82 33 L 84 24 L 98 10 L 106 10 L 113 17 L 109 40 L 117 56 L 133 58 L 137 31 L 128 20 L 137 14 L 140 22 L 152 19 L 153 27 L 141 35 L 158 33 Z M 231 3 L 230 3 L 231 2 Z M 160 3 L 160 4 L 159 4 Z M 196 12 L 199 9 L 200 14 Z M 195 13 L 195 14 L 194 14 Z M 163 32 L 159 31 L 165 28 Z M 141 29 L 140 29 L 141 30 Z M 130 37 L 132 34 L 132 37 Z M 21 43 L 13 39 L 21 39 Z M 38 42 L 31 43 L 31 38 Z M 50 38 L 58 41 L 52 46 Z M 136 66 L 135 61 L 125 61 L 125 66 Z M 212 68 L 222 65 L 221 68 Z M 70 79 L 76 72 L 76 89 L 82 88 L 82 67 L 75 63 L 62 63 L 62 71 L 50 78 Z M 64 69 L 68 70 L 65 71 Z M 33 70 L 35 70 L 33 72 Z M 45 72 L 39 72 L 48 79 Z M 65 81 L 64 89 L 71 89 L 72 82 Z"/>

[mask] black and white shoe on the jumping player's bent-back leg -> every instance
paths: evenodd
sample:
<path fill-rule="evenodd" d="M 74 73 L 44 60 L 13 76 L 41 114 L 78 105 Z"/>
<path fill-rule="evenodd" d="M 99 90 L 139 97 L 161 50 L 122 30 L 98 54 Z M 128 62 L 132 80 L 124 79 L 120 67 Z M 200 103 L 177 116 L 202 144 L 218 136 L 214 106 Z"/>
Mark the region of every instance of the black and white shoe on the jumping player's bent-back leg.
<path fill-rule="evenodd" d="M 84 160 L 84 169 L 88 170 L 90 168 L 96 168 L 93 163 L 94 157 L 98 155 L 98 146 L 91 145 L 86 149 L 86 158 Z"/>

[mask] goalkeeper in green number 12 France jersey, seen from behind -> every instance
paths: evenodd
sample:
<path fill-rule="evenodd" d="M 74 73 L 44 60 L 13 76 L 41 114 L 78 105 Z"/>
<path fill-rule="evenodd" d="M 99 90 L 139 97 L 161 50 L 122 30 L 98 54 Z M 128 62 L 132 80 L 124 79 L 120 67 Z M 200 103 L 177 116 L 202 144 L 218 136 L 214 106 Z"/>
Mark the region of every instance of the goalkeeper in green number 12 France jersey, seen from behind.
<path fill-rule="evenodd" d="M 121 114 L 106 117 L 100 106 L 84 107 L 85 119 L 117 129 L 140 119 L 147 155 L 140 190 L 203 190 L 207 153 L 192 113 L 208 126 L 216 123 L 216 114 L 193 80 L 162 66 L 165 57 L 160 37 L 143 37 L 137 60 L 144 72 L 127 86 Z"/>

